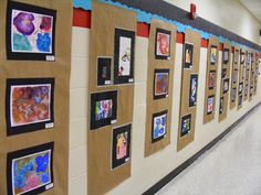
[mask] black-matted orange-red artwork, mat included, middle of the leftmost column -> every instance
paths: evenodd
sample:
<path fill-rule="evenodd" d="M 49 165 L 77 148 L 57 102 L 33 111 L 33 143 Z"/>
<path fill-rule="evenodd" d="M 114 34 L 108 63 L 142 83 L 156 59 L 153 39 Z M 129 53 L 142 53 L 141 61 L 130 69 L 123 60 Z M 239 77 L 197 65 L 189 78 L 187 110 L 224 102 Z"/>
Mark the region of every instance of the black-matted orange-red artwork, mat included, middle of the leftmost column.
<path fill-rule="evenodd" d="M 54 127 L 54 78 L 8 78 L 7 134 Z"/>

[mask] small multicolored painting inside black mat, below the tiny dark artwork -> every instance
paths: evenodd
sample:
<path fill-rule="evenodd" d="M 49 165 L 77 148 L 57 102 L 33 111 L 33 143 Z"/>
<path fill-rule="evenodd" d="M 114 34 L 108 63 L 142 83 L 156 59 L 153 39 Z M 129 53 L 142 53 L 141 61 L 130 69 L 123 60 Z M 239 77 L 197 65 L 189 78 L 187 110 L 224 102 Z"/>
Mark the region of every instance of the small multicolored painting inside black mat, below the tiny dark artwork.
<path fill-rule="evenodd" d="M 111 118 L 113 115 L 113 100 L 104 99 L 96 101 L 95 106 L 95 120 L 102 120 Z"/>

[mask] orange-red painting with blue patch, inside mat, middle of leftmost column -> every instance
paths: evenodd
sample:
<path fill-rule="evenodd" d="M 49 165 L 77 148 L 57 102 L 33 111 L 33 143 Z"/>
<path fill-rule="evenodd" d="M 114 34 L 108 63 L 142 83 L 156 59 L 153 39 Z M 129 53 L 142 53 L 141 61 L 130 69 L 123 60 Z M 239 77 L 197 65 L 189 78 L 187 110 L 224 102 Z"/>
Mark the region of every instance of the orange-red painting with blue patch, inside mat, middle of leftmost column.
<path fill-rule="evenodd" d="M 51 119 L 51 84 L 11 86 L 11 127 Z"/>

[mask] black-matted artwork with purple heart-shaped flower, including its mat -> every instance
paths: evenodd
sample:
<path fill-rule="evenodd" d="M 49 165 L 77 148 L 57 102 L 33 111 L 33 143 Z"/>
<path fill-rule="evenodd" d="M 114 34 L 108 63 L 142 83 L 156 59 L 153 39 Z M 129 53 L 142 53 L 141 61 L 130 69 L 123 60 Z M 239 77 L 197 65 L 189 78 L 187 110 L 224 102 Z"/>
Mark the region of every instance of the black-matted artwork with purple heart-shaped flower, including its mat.
<path fill-rule="evenodd" d="M 56 11 L 8 1 L 7 58 L 55 61 Z"/>

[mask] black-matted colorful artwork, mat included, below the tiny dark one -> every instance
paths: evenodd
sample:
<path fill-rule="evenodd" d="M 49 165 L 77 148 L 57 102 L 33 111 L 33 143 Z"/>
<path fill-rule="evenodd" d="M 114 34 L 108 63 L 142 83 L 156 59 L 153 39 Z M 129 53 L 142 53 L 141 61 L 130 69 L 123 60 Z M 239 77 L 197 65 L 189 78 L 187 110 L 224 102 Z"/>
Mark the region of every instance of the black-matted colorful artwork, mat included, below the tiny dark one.
<path fill-rule="evenodd" d="M 116 122 L 117 90 L 91 94 L 91 130 Z"/>

